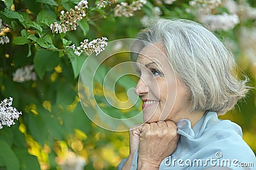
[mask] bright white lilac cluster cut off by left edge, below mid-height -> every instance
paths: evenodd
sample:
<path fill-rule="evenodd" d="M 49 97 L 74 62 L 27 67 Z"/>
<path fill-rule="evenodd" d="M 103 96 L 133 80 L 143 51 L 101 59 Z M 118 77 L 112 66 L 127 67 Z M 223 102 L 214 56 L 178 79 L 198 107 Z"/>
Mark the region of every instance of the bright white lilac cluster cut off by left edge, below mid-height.
<path fill-rule="evenodd" d="M 12 97 L 5 98 L 0 103 L 0 129 L 3 128 L 3 125 L 7 127 L 14 125 L 14 120 L 18 120 L 19 115 L 22 114 L 15 107 L 12 107 L 12 100 Z"/>

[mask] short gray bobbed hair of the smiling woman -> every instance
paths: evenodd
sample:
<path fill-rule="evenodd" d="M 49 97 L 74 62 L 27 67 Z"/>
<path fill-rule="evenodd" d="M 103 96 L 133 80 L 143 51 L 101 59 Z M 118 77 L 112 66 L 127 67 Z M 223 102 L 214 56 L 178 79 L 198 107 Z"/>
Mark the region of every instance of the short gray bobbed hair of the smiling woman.
<path fill-rule="evenodd" d="M 161 41 L 176 77 L 190 90 L 191 111 L 224 114 L 245 97 L 247 77 L 238 79 L 232 53 L 204 26 L 191 20 L 159 19 L 138 34 L 131 48 L 140 52 L 147 43 Z M 137 57 L 131 54 L 133 60 Z"/>

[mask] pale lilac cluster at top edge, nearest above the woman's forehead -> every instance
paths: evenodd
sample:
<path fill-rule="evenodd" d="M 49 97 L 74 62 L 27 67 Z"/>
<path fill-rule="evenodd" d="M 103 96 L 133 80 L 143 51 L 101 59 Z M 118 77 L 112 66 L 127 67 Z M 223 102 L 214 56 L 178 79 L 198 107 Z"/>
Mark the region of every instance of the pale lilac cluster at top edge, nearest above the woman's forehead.
<path fill-rule="evenodd" d="M 137 10 L 141 10 L 141 7 L 146 4 L 147 1 L 145 0 L 139 0 L 139 1 L 132 1 L 131 4 L 128 3 L 120 3 L 117 4 L 114 8 L 114 15 L 115 17 L 132 17 L 134 15 L 134 12 Z"/>

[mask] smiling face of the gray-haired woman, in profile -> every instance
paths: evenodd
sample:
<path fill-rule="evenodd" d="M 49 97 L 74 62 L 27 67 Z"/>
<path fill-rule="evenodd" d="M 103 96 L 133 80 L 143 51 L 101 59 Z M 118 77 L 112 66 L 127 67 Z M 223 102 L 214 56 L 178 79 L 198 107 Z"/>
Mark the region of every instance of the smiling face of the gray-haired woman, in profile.
<path fill-rule="evenodd" d="M 143 101 L 143 121 L 154 122 L 188 118 L 189 89 L 175 79 L 163 43 L 145 46 L 138 55 L 140 80 L 135 92 Z"/>

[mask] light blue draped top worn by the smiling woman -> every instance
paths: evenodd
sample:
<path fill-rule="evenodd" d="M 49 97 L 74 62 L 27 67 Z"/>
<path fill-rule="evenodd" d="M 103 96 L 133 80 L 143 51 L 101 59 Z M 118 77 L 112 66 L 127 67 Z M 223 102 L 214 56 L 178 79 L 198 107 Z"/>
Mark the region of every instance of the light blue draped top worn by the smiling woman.
<path fill-rule="evenodd" d="M 164 158 L 159 169 L 256 169 L 255 155 L 236 123 L 219 120 L 216 112 L 209 111 L 193 128 L 187 119 L 176 125 L 180 134 L 177 148 Z M 117 169 L 124 167 L 125 160 Z M 131 169 L 137 169 L 137 162 L 138 149 Z"/>

